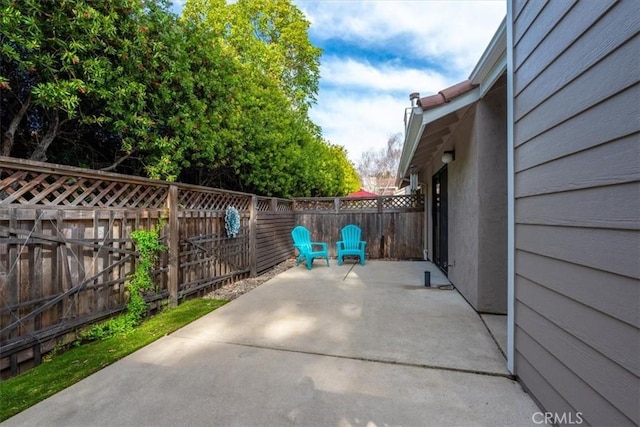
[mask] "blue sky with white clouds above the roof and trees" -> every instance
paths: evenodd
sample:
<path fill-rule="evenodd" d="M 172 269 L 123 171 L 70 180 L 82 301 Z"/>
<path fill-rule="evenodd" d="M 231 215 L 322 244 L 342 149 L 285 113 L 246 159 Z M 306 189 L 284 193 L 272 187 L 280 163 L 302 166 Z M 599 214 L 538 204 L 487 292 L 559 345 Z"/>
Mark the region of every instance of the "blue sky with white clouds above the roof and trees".
<path fill-rule="evenodd" d="M 184 0 L 174 0 L 174 11 Z M 404 131 L 409 94 L 465 80 L 506 15 L 505 0 L 293 0 L 323 49 L 311 119 L 323 136 L 363 152 Z"/>

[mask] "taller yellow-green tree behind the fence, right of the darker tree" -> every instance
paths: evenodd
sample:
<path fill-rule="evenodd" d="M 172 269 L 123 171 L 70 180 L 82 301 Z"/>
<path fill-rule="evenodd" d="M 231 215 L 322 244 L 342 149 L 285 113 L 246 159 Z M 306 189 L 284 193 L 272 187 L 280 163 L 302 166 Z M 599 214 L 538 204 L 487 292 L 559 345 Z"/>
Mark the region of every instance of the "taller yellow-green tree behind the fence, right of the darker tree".
<path fill-rule="evenodd" d="M 233 55 L 241 77 L 225 118 L 228 159 L 214 170 L 189 169 L 185 179 L 284 197 L 344 195 L 358 188 L 344 149 L 324 142 L 308 117 L 321 51 L 290 1 L 188 0 L 183 19 L 210 29 Z"/>

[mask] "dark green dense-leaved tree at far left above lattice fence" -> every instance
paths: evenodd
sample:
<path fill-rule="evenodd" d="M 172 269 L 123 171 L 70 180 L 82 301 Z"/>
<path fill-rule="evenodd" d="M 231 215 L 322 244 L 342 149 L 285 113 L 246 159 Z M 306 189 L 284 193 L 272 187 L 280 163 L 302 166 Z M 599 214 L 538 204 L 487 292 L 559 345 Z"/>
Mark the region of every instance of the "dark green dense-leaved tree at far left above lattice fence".
<path fill-rule="evenodd" d="M 170 180 L 215 157 L 232 63 L 167 2 L 0 5 L 3 155 Z"/>

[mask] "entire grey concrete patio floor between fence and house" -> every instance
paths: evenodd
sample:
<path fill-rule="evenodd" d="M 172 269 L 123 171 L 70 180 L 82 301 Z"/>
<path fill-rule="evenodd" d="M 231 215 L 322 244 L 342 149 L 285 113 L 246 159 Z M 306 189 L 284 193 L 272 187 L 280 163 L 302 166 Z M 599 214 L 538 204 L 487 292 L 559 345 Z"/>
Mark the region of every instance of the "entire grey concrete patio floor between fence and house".
<path fill-rule="evenodd" d="M 4 425 L 536 425 L 504 318 L 447 283 L 427 262 L 301 265 Z"/>

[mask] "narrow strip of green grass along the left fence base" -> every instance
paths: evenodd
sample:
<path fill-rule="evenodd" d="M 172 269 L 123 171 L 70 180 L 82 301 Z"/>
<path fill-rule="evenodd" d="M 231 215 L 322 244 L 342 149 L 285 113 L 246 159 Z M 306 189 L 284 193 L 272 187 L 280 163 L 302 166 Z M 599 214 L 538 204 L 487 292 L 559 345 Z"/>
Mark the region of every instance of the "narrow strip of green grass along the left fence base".
<path fill-rule="evenodd" d="M 193 299 L 143 321 L 127 334 L 71 348 L 24 374 L 0 381 L 0 421 L 77 383 L 153 341 L 180 329 L 227 301 Z"/>

